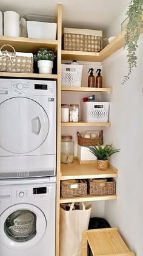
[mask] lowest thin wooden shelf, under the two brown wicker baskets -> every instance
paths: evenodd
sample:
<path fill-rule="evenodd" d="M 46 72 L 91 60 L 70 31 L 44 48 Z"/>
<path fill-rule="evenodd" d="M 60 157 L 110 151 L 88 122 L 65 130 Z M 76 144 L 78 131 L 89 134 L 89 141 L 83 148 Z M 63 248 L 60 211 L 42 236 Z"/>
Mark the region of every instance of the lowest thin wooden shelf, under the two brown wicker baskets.
<path fill-rule="evenodd" d="M 81 197 L 68 197 L 68 198 L 61 198 L 60 204 L 65 204 L 68 202 L 90 202 L 90 201 L 102 201 L 102 200 L 116 200 L 116 194 L 113 196 L 81 196 Z"/>

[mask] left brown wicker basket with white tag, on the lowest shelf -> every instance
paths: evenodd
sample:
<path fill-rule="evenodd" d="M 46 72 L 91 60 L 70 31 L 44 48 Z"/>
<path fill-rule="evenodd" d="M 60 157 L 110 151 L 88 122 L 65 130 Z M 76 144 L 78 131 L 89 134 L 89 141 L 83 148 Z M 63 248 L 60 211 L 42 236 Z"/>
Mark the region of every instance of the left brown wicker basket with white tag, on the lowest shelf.
<path fill-rule="evenodd" d="M 87 182 L 79 180 L 78 183 L 62 183 L 61 197 L 87 196 Z"/>

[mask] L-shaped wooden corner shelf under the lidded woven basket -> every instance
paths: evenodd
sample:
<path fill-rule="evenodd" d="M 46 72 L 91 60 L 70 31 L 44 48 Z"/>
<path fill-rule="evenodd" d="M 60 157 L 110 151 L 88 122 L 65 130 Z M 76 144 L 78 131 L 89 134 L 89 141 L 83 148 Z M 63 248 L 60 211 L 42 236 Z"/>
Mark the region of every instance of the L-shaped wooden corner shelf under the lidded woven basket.
<path fill-rule="evenodd" d="M 143 29 L 141 29 L 141 34 Z M 102 62 L 124 46 L 125 30 L 111 41 L 101 52 L 62 51 L 62 60 Z"/>

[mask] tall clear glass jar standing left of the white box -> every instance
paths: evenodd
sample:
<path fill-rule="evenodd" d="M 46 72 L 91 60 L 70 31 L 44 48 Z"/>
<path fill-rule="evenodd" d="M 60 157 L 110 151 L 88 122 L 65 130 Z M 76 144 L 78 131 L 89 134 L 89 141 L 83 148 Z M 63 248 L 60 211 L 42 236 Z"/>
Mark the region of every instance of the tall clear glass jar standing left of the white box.
<path fill-rule="evenodd" d="M 72 136 L 61 136 L 61 163 L 73 162 L 74 144 Z"/>

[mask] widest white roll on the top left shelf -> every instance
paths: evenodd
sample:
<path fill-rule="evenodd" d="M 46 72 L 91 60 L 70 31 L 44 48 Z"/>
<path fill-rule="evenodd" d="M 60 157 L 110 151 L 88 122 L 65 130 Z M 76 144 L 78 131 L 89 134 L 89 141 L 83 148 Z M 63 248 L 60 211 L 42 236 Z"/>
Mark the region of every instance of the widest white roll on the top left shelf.
<path fill-rule="evenodd" d="M 4 35 L 19 37 L 19 19 L 20 16 L 16 12 L 4 12 Z"/>

